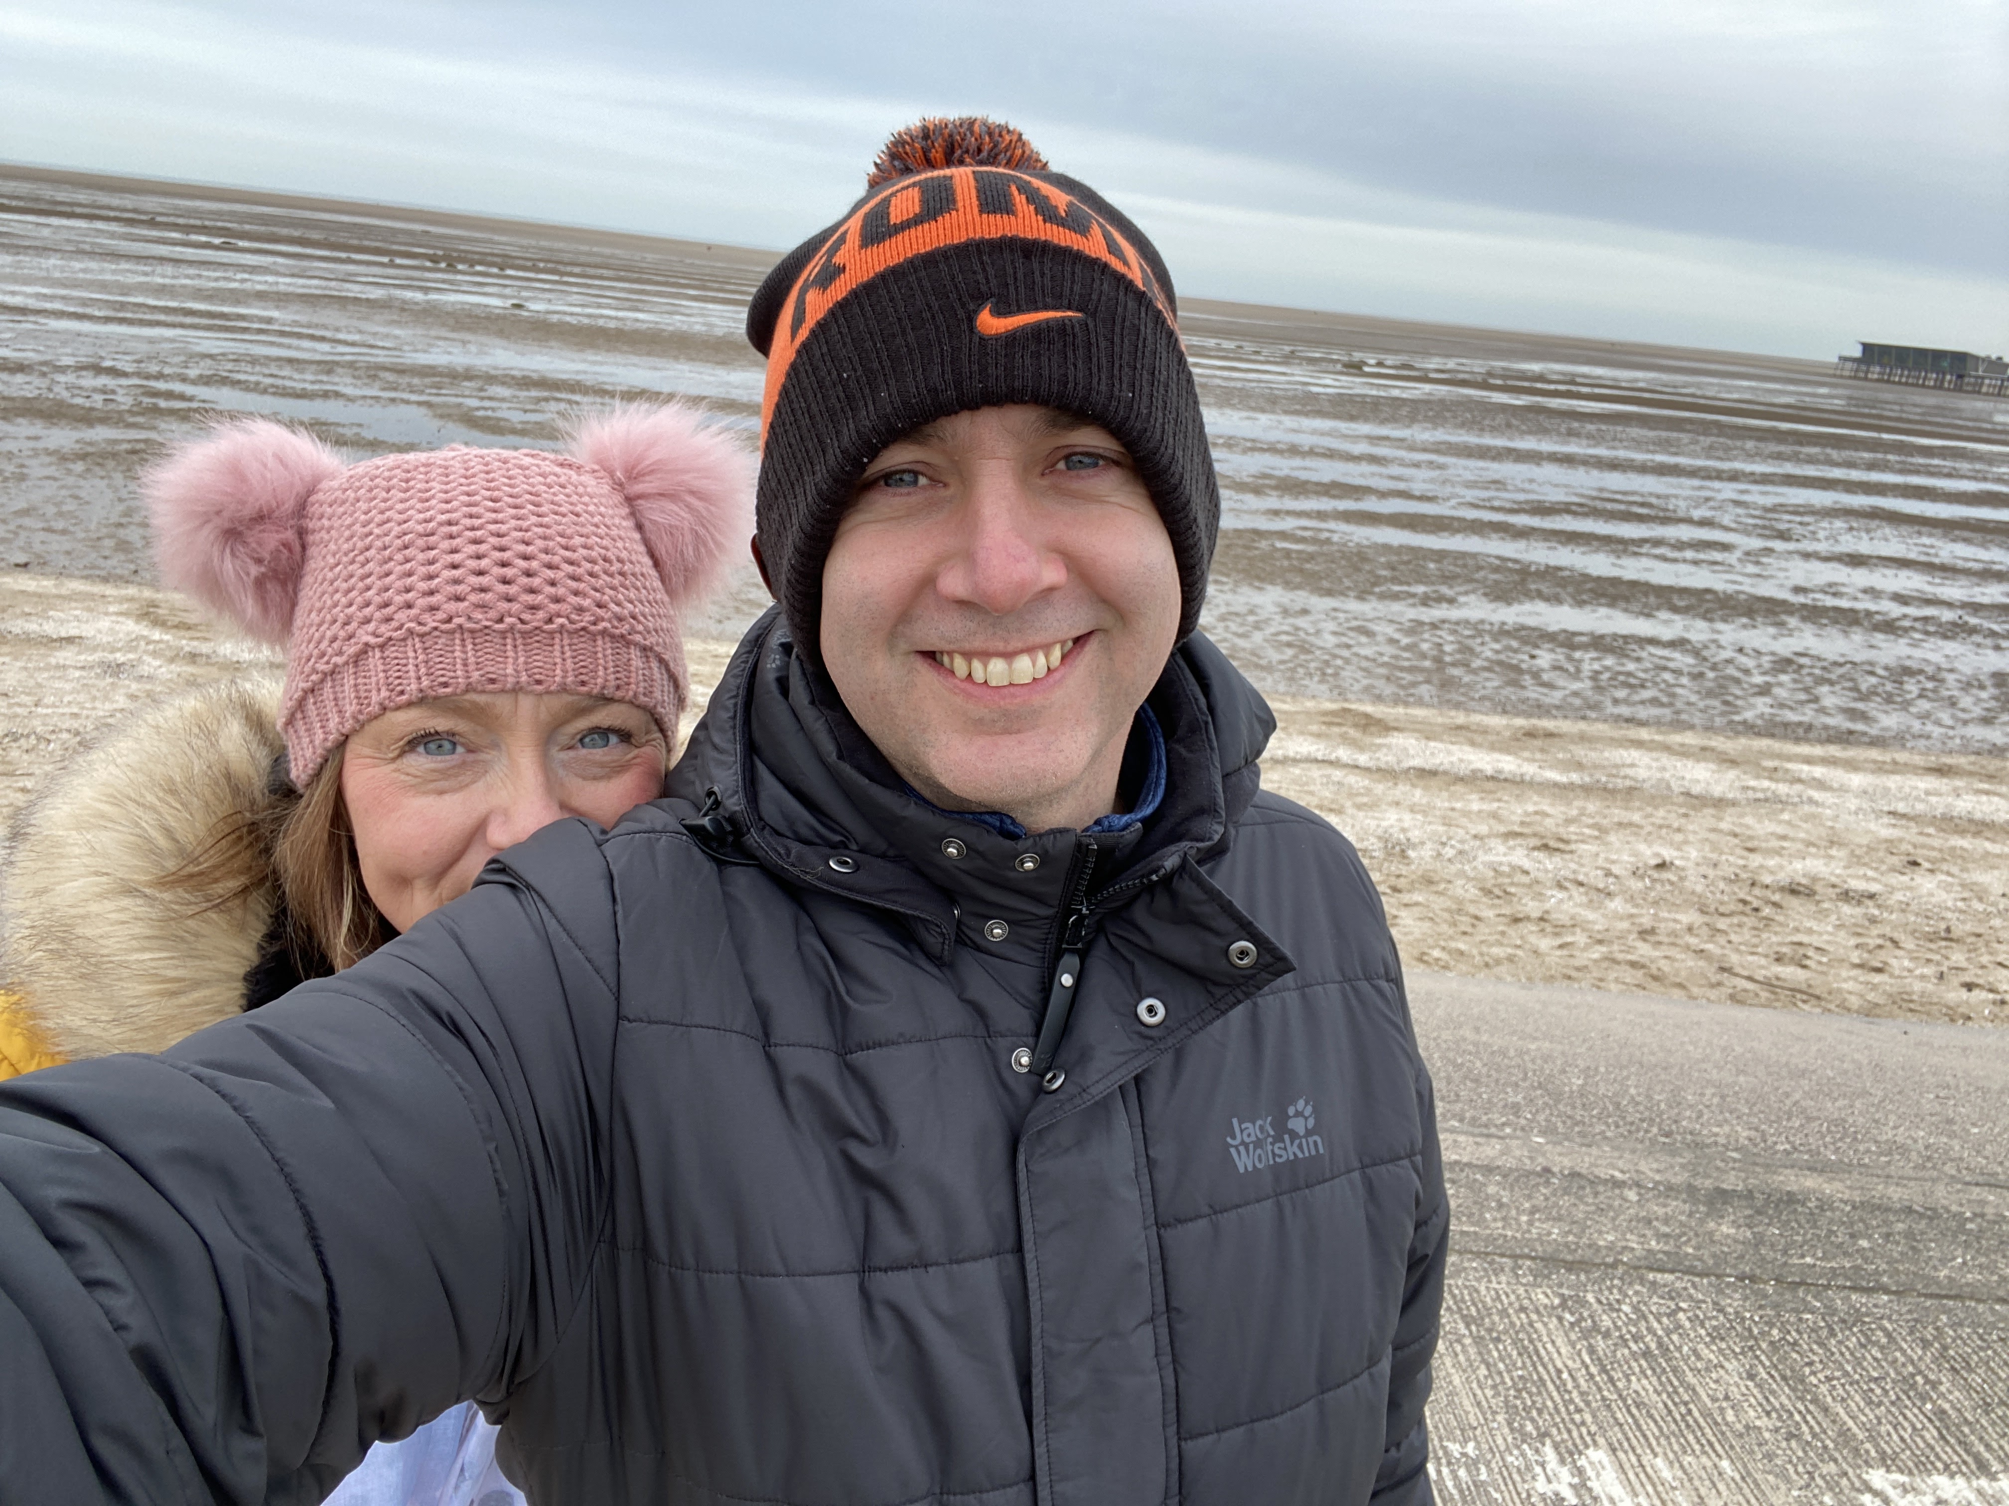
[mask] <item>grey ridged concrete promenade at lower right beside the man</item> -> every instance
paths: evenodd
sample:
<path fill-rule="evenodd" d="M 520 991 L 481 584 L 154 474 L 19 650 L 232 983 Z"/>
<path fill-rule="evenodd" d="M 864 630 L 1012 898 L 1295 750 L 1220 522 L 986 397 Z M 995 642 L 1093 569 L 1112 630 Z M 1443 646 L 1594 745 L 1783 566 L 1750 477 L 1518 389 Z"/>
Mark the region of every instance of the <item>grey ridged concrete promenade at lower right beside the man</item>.
<path fill-rule="evenodd" d="M 2009 1506 L 2009 1032 L 1412 974 L 1438 1500 Z"/>

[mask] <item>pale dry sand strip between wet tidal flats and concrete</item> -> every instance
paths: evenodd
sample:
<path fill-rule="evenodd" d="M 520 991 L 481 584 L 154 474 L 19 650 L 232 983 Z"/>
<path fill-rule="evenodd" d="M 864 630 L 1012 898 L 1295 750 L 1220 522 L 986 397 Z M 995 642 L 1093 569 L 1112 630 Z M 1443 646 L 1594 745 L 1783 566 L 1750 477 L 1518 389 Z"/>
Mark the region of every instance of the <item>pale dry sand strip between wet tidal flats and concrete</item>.
<path fill-rule="evenodd" d="M 695 717 L 731 643 L 689 653 Z M 265 663 L 175 594 L 0 572 L 0 821 L 123 709 Z M 1264 783 L 1360 845 L 1412 968 L 2009 1022 L 2009 759 L 1276 709 Z"/>

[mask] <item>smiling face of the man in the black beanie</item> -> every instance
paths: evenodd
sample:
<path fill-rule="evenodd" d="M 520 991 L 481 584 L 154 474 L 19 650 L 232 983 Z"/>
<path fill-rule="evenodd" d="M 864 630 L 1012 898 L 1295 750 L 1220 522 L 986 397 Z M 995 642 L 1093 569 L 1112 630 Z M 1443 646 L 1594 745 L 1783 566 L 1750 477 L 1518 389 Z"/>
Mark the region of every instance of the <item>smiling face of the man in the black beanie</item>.
<path fill-rule="evenodd" d="M 1129 452 L 1051 408 L 890 444 L 824 562 L 824 665 L 866 737 L 936 805 L 1029 831 L 1113 809 L 1177 631 L 1177 560 Z"/>

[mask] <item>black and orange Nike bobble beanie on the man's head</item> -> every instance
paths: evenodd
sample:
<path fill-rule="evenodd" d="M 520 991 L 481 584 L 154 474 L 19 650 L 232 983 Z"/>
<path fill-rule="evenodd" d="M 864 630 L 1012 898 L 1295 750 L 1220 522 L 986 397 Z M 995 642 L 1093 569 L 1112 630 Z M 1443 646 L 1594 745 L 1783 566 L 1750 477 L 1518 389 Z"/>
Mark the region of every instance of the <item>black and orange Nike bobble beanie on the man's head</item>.
<path fill-rule="evenodd" d="M 767 357 L 761 570 L 810 655 L 858 476 L 902 434 L 996 404 L 1079 414 L 1123 442 L 1179 560 L 1179 639 L 1199 622 L 1221 500 L 1171 277 L 1123 213 L 1011 127 L 900 131 L 864 199 L 767 273 L 747 339 Z"/>

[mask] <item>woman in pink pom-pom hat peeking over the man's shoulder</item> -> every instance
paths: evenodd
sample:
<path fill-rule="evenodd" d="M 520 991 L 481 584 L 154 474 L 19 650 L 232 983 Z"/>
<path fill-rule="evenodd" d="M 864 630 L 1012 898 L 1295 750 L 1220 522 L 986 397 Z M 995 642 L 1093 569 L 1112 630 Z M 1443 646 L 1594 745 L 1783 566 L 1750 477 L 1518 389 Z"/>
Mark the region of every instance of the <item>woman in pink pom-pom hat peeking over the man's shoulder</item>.
<path fill-rule="evenodd" d="M 163 578 L 285 645 L 285 681 L 151 707 L 46 781 L 4 875 L 0 1076 L 165 1050 L 348 968 L 548 821 L 661 793 L 677 614 L 751 526 L 739 446 L 683 408 L 565 456 L 346 466 L 265 420 L 147 478 Z M 520 1500 L 456 1408 L 378 1444 L 348 1506 Z"/>

